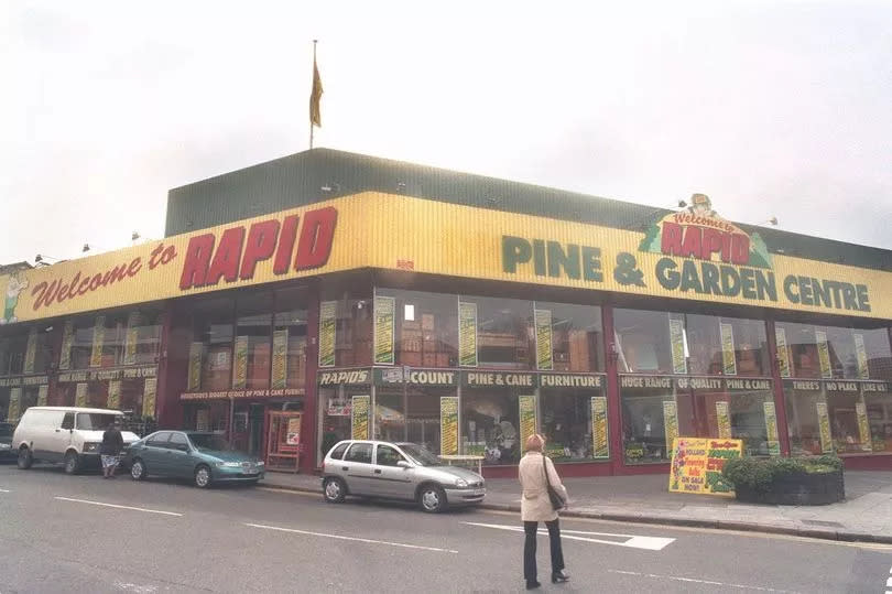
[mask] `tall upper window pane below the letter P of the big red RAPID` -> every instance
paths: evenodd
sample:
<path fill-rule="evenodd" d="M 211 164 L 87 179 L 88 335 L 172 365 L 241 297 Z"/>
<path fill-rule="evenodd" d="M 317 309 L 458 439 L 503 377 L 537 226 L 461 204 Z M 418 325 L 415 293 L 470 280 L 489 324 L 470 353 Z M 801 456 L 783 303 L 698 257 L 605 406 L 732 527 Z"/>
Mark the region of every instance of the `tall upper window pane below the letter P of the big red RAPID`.
<path fill-rule="evenodd" d="M 262 390 L 270 387 L 272 349 L 272 293 L 236 299 L 238 317 L 232 361 L 232 388 Z"/>

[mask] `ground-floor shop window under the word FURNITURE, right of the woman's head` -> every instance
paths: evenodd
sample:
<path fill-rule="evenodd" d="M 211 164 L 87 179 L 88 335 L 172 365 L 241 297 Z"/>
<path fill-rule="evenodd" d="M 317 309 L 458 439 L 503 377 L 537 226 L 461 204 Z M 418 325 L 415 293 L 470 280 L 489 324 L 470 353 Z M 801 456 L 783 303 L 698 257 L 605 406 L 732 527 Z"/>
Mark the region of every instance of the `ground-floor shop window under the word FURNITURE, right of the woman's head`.
<path fill-rule="evenodd" d="M 598 409 L 599 406 L 602 408 Z M 591 420 L 592 407 L 600 414 L 599 422 L 595 424 Z M 540 410 L 546 453 L 552 460 L 581 462 L 608 457 L 607 399 L 600 389 L 543 388 Z M 600 432 L 600 435 L 594 431 Z M 595 450 L 596 441 L 598 452 Z"/>

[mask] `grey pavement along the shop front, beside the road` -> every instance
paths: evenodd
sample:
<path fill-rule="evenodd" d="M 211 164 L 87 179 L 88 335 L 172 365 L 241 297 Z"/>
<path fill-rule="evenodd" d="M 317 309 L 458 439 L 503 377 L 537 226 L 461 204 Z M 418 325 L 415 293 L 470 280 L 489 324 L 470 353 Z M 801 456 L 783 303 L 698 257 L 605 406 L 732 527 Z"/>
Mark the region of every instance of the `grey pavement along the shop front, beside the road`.
<path fill-rule="evenodd" d="M 847 471 L 846 500 L 826 506 L 770 506 L 668 492 L 665 475 L 566 478 L 563 517 L 892 543 L 892 472 Z M 268 473 L 264 486 L 320 493 L 319 477 Z M 518 482 L 487 479 L 485 509 L 520 511 Z"/>

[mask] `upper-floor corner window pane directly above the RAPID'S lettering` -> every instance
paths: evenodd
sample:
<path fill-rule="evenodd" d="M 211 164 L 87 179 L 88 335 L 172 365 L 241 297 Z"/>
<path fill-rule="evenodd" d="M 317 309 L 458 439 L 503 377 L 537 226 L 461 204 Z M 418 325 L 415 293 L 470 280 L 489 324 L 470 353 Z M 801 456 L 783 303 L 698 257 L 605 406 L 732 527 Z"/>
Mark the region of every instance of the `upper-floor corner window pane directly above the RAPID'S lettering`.
<path fill-rule="evenodd" d="M 330 307 L 330 314 L 327 309 Z M 370 293 L 323 290 L 319 316 L 319 366 L 362 367 L 372 361 L 372 299 Z M 330 315 L 334 320 L 327 318 Z M 330 334 L 334 333 L 334 336 Z M 334 353 L 326 353 L 327 345 Z"/>

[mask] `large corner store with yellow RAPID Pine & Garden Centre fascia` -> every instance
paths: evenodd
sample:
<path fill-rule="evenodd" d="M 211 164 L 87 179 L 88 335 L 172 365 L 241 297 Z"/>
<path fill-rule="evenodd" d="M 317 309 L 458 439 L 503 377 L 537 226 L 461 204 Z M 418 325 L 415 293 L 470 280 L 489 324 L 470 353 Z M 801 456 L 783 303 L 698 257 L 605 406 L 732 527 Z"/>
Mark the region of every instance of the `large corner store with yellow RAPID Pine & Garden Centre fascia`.
<path fill-rule="evenodd" d="M 668 472 L 675 435 L 892 468 L 892 252 L 688 202 L 324 149 L 186 185 L 163 240 L 0 276 L 0 418 L 119 408 L 304 472 L 352 435 L 510 475 L 532 431 L 567 475 Z"/>

